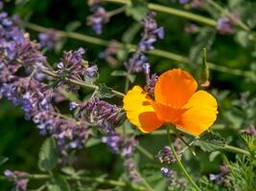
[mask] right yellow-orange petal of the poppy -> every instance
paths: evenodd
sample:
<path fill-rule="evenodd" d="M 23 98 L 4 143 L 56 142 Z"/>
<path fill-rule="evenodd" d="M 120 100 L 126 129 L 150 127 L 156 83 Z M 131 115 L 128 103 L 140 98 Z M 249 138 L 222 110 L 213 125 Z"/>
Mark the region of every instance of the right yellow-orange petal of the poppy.
<path fill-rule="evenodd" d="M 207 130 L 218 114 L 215 97 L 205 91 L 195 93 L 184 107 L 190 109 L 180 117 L 175 125 L 195 136 Z"/>

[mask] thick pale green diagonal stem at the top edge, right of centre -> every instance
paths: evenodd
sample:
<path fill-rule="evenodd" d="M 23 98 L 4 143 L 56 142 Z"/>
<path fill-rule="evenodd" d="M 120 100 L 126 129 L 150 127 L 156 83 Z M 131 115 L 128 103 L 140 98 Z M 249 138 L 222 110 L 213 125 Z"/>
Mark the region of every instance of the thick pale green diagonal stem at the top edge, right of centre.
<path fill-rule="evenodd" d="M 124 5 L 130 5 L 131 2 L 130 0 L 105 0 L 105 2 L 108 3 L 117 3 L 117 4 L 124 4 Z M 200 16 L 198 14 L 189 12 L 189 11 L 182 11 L 182 10 L 177 10 L 174 8 L 168 8 L 165 6 L 149 3 L 148 8 L 151 11 L 158 11 L 158 12 L 163 12 L 163 13 L 168 13 L 172 14 L 175 16 L 179 16 L 188 20 L 196 21 L 198 23 L 204 24 L 204 25 L 209 25 L 212 27 L 216 27 L 216 21 L 210 18 L 207 18 L 205 16 Z"/>

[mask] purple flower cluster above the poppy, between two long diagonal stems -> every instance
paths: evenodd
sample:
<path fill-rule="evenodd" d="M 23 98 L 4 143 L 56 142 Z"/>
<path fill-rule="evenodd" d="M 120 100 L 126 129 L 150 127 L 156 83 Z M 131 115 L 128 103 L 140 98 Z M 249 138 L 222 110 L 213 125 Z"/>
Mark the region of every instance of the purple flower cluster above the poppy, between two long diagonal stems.
<path fill-rule="evenodd" d="M 138 46 L 140 51 L 152 50 L 152 44 L 157 40 L 157 38 L 164 38 L 164 28 L 158 28 L 156 21 L 153 19 L 154 15 L 154 12 L 150 12 L 148 16 L 143 20 L 144 32 L 142 33 L 142 39 Z"/>

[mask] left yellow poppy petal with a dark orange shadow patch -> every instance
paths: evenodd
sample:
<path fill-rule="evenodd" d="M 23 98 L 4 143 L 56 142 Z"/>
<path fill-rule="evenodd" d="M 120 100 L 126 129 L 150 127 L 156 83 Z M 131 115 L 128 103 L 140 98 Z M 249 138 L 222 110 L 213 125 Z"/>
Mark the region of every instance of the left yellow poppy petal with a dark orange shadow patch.
<path fill-rule="evenodd" d="M 149 133 L 163 124 L 156 117 L 151 102 L 151 98 L 139 86 L 134 86 L 124 97 L 128 120 L 144 133 Z"/>

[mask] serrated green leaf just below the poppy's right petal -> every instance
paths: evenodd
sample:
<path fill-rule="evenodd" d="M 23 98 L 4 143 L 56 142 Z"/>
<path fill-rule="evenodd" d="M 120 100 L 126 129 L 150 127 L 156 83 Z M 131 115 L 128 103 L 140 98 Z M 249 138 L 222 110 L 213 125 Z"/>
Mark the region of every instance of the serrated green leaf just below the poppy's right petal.
<path fill-rule="evenodd" d="M 204 152 L 212 152 L 219 150 L 224 147 L 226 144 L 225 138 L 222 138 L 218 133 L 206 133 L 198 138 L 195 142 L 195 145 L 200 147 Z"/>

